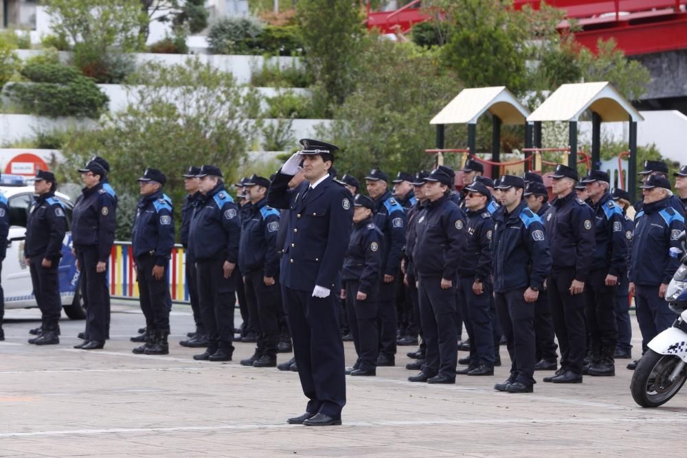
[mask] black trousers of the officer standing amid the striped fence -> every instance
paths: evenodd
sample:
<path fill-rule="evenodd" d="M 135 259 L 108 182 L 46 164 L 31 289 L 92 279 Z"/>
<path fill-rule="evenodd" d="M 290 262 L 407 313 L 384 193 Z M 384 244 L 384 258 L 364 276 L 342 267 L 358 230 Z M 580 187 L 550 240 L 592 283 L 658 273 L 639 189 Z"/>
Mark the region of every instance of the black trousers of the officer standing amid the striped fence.
<path fill-rule="evenodd" d="M 165 273 L 157 280 L 153 276 L 155 257 L 141 255 L 136 258 L 136 279 L 138 281 L 139 302 L 144 317 L 146 328 L 150 331 L 170 330 L 170 310 L 172 309 L 172 297 L 170 296 L 170 284 L 167 277 L 169 262 L 164 266 Z"/>

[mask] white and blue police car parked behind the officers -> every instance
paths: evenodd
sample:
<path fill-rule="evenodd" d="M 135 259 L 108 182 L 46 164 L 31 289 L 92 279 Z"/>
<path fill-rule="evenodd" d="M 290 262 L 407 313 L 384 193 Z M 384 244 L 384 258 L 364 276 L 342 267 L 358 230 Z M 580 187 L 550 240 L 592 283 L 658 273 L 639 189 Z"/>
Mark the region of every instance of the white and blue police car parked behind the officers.
<path fill-rule="evenodd" d="M 5 310 L 36 307 L 31 273 L 24 260 L 26 220 L 34 200 L 34 187 L 23 176 L 1 174 L 0 192 L 8 199 L 10 210 L 10 233 L 7 255 L 2 264 L 2 287 L 5 290 Z M 74 203 L 65 194 L 55 196 L 65 204 L 67 234 L 62 244 L 63 257 L 58 268 L 62 306 L 71 319 L 84 319 L 86 312 L 80 300 L 78 288 L 79 273 L 76 271 L 74 255 L 71 254 L 71 209 Z"/>

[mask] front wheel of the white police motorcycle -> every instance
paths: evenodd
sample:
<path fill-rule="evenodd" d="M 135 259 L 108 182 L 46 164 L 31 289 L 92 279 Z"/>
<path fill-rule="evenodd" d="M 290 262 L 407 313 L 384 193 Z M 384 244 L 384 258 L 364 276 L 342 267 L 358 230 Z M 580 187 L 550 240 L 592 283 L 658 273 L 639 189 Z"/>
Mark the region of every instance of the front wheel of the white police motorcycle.
<path fill-rule="evenodd" d="M 684 369 L 677 374 L 675 380 L 669 380 L 680 361 L 678 356 L 647 350 L 637 364 L 630 382 L 630 391 L 635 402 L 642 407 L 659 407 L 671 400 L 687 380 Z"/>

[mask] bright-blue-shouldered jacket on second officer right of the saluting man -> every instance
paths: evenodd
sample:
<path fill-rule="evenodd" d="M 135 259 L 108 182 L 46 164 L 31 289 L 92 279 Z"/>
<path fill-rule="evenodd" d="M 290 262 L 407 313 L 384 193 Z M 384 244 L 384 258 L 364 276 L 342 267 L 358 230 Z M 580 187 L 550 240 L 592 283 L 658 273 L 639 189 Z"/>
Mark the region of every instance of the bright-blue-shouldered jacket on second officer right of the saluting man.
<path fill-rule="evenodd" d="M 396 275 L 405 247 L 405 210 L 387 190 L 374 200 L 374 225 L 384 234 L 382 275 Z"/>

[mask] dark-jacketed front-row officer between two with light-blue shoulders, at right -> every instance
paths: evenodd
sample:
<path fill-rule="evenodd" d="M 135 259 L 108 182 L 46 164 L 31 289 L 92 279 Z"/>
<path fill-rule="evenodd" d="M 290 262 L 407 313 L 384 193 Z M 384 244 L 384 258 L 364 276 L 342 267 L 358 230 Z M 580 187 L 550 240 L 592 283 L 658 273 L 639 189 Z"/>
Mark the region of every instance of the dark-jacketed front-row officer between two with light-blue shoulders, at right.
<path fill-rule="evenodd" d="M 545 221 L 553 260 L 546 286 L 561 347 L 561 367 L 556 375 L 543 380 L 581 383 L 587 342 L 583 293 L 594 258 L 594 211 L 574 192 L 576 169 L 559 164 L 551 177 L 556 200 Z"/>

